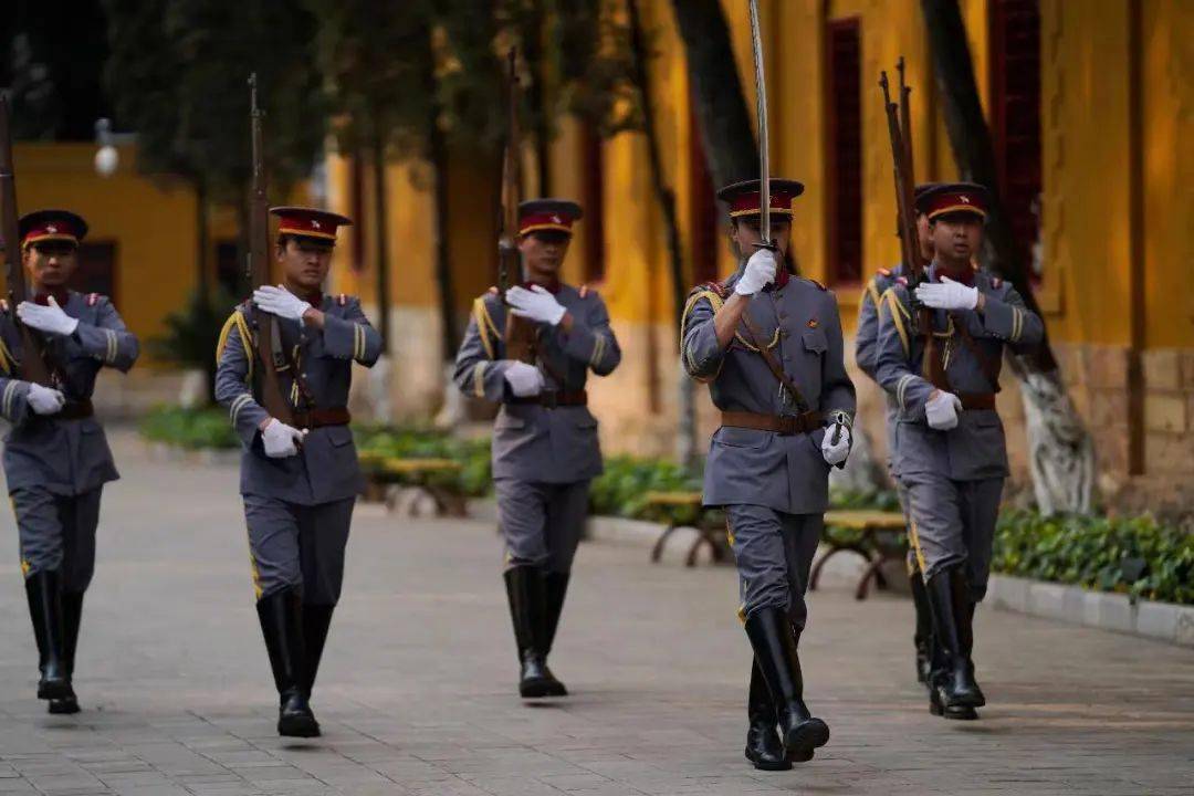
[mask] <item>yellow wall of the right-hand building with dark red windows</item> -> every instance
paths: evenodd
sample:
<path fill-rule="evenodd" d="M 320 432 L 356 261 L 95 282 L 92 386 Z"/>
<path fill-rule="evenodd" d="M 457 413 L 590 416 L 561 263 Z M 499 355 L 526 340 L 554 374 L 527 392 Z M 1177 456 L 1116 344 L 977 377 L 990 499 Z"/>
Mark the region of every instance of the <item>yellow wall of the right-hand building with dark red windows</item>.
<path fill-rule="evenodd" d="M 989 92 L 987 1 L 961 0 L 975 78 L 984 106 Z M 736 62 L 751 113 L 753 72 L 746 0 L 722 0 L 731 23 Z M 684 254 L 691 241 L 694 192 L 688 152 L 689 82 L 683 45 L 665 0 L 642 4 L 654 32 L 651 63 L 653 111 L 667 183 L 676 190 Z M 794 248 L 801 269 L 813 278 L 831 272 L 825 203 L 826 140 L 824 26 L 827 20 L 860 17 L 863 103 L 863 261 L 868 270 L 899 255 L 892 233 L 894 195 L 886 117 L 878 88 L 880 69 L 893 70 L 904 55 L 913 87 L 915 156 L 921 180 L 954 179 L 956 168 L 941 117 L 918 0 L 762 0 L 764 47 L 771 113 L 773 173 L 800 179 Z M 1140 43 L 1132 49 L 1133 18 L 1139 14 Z M 1045 277 L 1039 298 L 1051 333 L 1059 341 L 1127 345 L 1132 309 L 1132 258 L 1143 258 L 1145 341 L 1149 346 L 1194 346 L 1194 291 L 1187 284 L 1194 263 L 1188 220 L 1194 217 L 1194 154 L 1190 104 L 1194 101 L 1194 7 L 1168 0 L 1041 0 L 1042 45 L 1042 246 Z M 1132 69 L 1133 51 L 1139 75 Z M 1138 109 L 1139 141 L 1133 140 Z M 583 175 L 580 134 L 574 122 L 561 124 L 552 148 L 553 193 L 579 197 Z M 671 288 L 667 248 L 656 202 L 642 136 L 622 134 L 604 143 L 605 280 L 603 295 L 615 321 L 670 323 Z M 1132 163 L 1138 163 L 1139 196 L 1132 192 Z M 396 167 L 395 167 L 396 168 Z M 395 172 L 396 173 L 396 172 Z M 454 163 L 453 235 L 457 298 L 467 302 L 492 283 L 492 187 L 475 169 Z M 472 187 L 469 187 L 472 186 Z M 427 197 L 406 193 L 426 208 Z M 1135 197 L 1135 198 L 1133 198 Z M 395 200 L 398 197 L 395 196 Z M 1133 202 L 1139 205 L 1133 205 Z M 1143 208 L 1133 227 L 1133 206 Z M 420 216 L 421 217 L 421 216 Z M 423 218 L 425 221 L 425 218 Z M 433 302 L 430 273 L 432 237 L 425 224 L 395 227 L 399 271 L 416 282 L 406 301 Z M 577 279 L 587 246 L 585 223 L 566 266 Z M 1143 251 L 1133 251 L 1139 246 Z M 371 251 L 371 247 L 370 247 Z M 722 273 L 733 267 L 719 242 Z M 421 270 L 421 274 L 420 274 Z M 857 306 L 857 285 L 833 285 L 849 329 Z M 363 292 L 369 286 L 362 288 Z M 1176 303 L 1175 303 L 1176 302 Z M 1176 319 L 1176 320 L 1175 320 Z"/>

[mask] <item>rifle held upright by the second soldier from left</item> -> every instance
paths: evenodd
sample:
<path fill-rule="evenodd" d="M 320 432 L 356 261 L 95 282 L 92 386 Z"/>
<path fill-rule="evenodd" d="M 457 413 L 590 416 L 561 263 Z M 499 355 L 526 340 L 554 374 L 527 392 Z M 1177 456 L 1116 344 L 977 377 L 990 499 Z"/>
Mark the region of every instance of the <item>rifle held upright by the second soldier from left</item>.
<path fill-rule="evenodd" d="M 256 72 L 248 78 L 248 104 L 253 137 L 253 187 L 248 202 L 248 259 L 245 265 L 248 284 L 256 289 L 270 283 L 270 200 L 265 190 L 265 135 L 261 131 L 265 115 L 257 105 Z M 278 369 L 284 365 L 278 321 L 256 306 L 250 317 L 257 331 L 256 357 L 259 366 L 253 380 L 257 401 L 278 422 L 294 425 L 294 409 L 278 382 Z M 252 341 L 245 341 L 246 350 L 252 345 Z"/>

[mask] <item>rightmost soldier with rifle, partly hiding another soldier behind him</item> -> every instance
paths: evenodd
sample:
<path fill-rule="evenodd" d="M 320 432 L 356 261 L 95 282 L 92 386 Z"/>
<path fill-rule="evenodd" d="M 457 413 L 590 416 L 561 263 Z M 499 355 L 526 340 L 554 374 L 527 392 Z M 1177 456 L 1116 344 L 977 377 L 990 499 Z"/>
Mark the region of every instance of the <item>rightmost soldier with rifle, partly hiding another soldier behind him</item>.
<path fill-rule="evenodd" d="M 986 593 L 1008 457 L 995 408 L 1005 346 L 1044 335 L 1040 317 L 1010 284 L 975 270 L 986 191 L 938 185 L 917 198 L 935 258 L 910 295 L 900 277 L 881 298 L 876 380 L 896 399 L 896 471 L 934 625 L 930 709 L 975 718 L 986 704 L 974 680 L 974 607 Z M 931 313 L 940 359 L 925 357 L 916 314 Z"/>

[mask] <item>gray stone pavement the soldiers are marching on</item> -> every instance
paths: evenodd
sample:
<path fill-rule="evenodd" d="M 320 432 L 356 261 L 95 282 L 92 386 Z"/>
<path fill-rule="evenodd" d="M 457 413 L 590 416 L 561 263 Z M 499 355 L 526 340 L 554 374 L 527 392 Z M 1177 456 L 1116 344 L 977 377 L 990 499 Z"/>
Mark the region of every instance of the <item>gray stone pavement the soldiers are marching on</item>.
<path fill-rule="evenodd" d="M 1189 650 L 980 611 L 979 722 L 934 718 L 911 679 L 906 600 L 811 599 L 813 763 L 741 755 L 747 647 L 733 572 L 586 544 L 553 655 L 573 691 L 522 704 L 479 522 L 358 510 L 315 695 L 325 738 L 283 742 L 252 609 L 235 470 L 149 462 L 117 437 L 76 689 L 55 717 L 0 514 L 0 796 L 251 794 L 1192 794 Z"/>

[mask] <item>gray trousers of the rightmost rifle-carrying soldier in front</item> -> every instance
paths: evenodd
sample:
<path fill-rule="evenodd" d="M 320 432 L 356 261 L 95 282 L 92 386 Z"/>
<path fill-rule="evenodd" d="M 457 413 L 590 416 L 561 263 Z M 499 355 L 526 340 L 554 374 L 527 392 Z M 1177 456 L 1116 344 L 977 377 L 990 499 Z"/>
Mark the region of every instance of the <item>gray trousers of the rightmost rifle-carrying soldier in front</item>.
<path fill-rule="evenodd" d="M 904 490 L 909 536 L 924 579 L 965 564 L 971 599 L 980 601 L 991 576 L 1003 479 L 953 481 L 916 475 L 904 480 Z"/>

